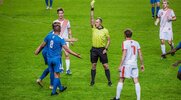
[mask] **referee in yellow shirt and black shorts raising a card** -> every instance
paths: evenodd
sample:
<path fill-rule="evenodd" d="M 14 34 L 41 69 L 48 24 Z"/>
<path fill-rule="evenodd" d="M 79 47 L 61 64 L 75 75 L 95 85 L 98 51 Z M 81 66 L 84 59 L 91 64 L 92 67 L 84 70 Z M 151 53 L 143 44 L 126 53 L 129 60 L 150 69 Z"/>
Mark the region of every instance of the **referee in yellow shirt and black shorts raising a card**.
<path fill-rule="evenodd" d="M 96 65 L 99 58 L 100 62 L 102 63 L 105 69 L 105 75 L 108 79 L 108 85 L 111 86 L 112 82 L 110 79 L 110 71 L 108 67 L 108 58 L 107 58 L 107 50 L 110 44 L 110 36 L 108 30 L 102 26 L 101 18 L 97 18 L 94 21 L 94 0 L 92 0 L 91 2 L 90 14 L 91 14 L 90 24 L 92 27 L 92 48 L 90 50 L 92 69 L 91 69 L 90 85 L 93 86 L 95 84 Z"/>

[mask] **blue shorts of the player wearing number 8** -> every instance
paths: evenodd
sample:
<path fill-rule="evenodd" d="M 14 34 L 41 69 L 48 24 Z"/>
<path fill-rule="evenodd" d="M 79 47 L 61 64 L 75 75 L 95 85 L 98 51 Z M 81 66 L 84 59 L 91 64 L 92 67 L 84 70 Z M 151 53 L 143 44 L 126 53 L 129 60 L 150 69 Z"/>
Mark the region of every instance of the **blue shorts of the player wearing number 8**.
<path fill-rule="evenodd" d="M 48 67 L 50 72 L 61 72 L 62 62 L 60 57 L 48 58 Z"/>

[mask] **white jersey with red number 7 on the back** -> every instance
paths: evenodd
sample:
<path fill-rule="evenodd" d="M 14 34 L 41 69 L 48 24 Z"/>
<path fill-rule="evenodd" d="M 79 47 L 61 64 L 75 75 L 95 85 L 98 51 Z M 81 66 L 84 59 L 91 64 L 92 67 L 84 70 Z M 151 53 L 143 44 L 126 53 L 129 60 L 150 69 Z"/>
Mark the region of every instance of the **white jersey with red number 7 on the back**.
<path fill-rule="evenodd" d="M 140 49 L 139 43 L 134 40 L 125 40 L 122 43 L 122 49 L 127 50 L 123 65 L 130 65 L 130 67 L 137 68 L 137 56 Z"/>

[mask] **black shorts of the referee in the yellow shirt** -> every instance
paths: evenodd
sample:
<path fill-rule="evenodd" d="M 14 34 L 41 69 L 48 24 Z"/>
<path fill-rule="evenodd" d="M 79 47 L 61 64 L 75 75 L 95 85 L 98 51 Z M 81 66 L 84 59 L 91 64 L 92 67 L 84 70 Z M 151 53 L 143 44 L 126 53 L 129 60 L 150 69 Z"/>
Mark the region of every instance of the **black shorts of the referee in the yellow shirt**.
<path fill-rule="evenodd" d="M 91 63 L 97 63 L 98 58 L 100 58 L 100 62 L 102 64 L 108 63 L 107 53 L 103 54 L 104 49 L 105 49 L 104 47 L 101 47 L 101 48 L 92 47 L 91 48 L 91 50 L 90 50 Z"/>

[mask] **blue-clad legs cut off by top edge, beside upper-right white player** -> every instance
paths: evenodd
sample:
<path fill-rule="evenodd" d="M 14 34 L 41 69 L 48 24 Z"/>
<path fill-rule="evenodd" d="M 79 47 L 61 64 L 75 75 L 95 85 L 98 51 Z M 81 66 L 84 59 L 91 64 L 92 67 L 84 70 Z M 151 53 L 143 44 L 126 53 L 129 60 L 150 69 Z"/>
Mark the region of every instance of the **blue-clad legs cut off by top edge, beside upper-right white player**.
<path fill-rule="evenodd" d="M 160 10 L 160 0 L 150 0 L 152 18 L 157 17 L 158 11 Z M 155 5 L 156 5 L 156 15 L 155 15 Z"/>

